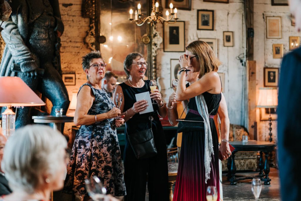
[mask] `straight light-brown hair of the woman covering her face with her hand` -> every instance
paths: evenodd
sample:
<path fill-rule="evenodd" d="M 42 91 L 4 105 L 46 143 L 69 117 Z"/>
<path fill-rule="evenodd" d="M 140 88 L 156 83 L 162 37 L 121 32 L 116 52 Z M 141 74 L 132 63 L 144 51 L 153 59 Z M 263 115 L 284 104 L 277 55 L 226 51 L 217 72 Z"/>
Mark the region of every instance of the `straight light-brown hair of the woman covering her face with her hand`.
<path fill-rule="evenodd" d="M 222 64 L 214 55 L 212 48 L 204 41 L 196 40 L 191 42 L 186 47 L 186 50 L 197 55 L 196 59 L 199 61 L 200 66 L 196 67 L 195 71 L 200 72 L 199 78 L 210 71 L 217 71 Z"/>

